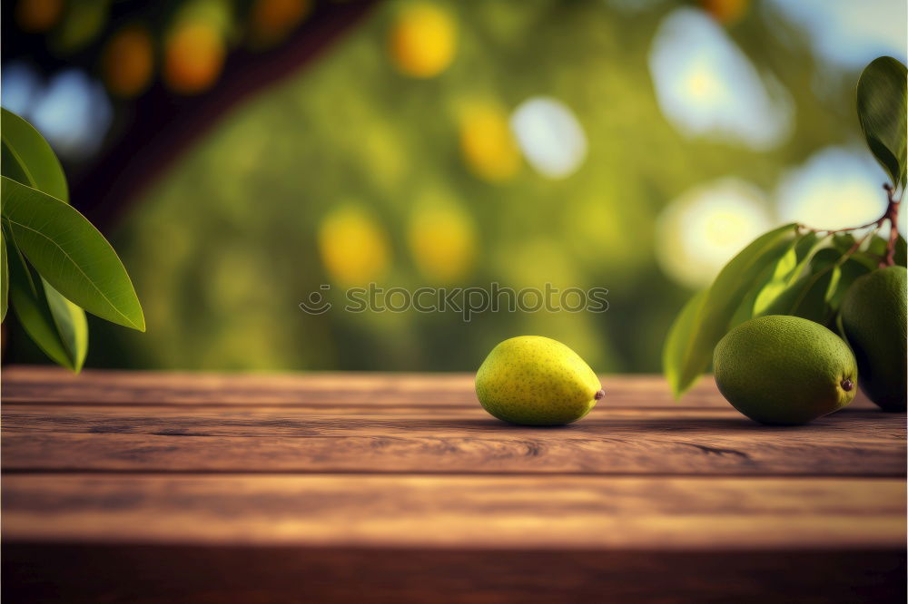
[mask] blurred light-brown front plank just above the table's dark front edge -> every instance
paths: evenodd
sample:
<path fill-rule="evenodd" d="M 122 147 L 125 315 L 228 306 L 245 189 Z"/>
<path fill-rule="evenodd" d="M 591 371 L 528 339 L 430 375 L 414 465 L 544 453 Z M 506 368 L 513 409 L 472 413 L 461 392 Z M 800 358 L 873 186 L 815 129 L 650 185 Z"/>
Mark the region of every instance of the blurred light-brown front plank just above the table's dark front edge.
<path fill-rule="evenodd" d="M 897 479 L 7 475 L 5 541 L 758 550 L 904 548 Z"/>

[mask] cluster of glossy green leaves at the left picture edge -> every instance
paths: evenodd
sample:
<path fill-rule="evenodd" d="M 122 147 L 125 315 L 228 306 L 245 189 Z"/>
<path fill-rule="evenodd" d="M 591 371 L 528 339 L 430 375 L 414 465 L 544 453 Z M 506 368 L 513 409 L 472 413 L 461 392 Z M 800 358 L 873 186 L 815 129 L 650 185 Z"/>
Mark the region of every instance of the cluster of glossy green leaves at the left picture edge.
<path fill-rule="evenodd" d="M 0 141 L 2 318 L 12 306 L 44 354 L 79 371 L 88 351 L 85 311 L 144 331 L 142 307 L 114 248 L 69 205 L 47 141 L 5 109 Z"/>

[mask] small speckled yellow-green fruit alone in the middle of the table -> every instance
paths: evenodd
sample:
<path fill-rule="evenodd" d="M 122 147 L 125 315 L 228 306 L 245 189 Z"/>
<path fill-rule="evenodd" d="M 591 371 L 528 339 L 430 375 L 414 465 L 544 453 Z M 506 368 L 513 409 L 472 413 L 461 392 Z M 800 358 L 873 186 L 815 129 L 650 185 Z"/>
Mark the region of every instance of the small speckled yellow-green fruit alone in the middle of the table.
<path fill-rule="evenodd" d="M 476 374 L 476 395 L 511 424 L 561 425 L 589 413 L 605 393 L 576 352 L 542 336 L 512 337 L 492 349 Z"/>

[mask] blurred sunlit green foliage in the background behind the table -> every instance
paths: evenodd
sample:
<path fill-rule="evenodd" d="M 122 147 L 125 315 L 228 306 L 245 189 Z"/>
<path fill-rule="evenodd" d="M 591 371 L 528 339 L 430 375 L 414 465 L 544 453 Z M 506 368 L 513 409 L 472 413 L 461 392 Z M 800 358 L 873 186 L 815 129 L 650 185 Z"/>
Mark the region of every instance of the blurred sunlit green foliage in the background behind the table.
<path fill-rule="evenodd" d="M 688 140 L 661 114 L 647 54 L 674 4 L 630 12 L 601 0 L 447 7 L 457 48 L 439 76 L 395 69 L 388 38 L 400 5 L 382 5 L 187 151 L 113 233 L 147 333 L 93 326 L 90 363 L 474 370 L 498 341 L 535 334 L 568 344 L 597 371 L 654 372 L 691 295 L 656 266 L 659 211 L 726 175 L 771 190 L 812 151 L 858 136 L 854 74 L 824 71 L 817 93 L 821 69 L 804 36 L 764 12 L 752 10 L 728 34 L 792 95 L 795 132 L 770 152 Z M 582 167 L 548 180 L 521 160 L 512 178 L 478 178 L 460 151 L 465 112 L 479 104 L 507 115 L 539 94 L 577 115 L 588 141 Z M 607 287 L 608 311 L 499 312 L 469 324 L 454 312 L 343 312 L 345 284 L 320 253 L 332 210 L 362 209 L 387 248 L 380 285 L 412 289 L 437 284 L 420 270 L 408 235 L 414 212 L 433 200 L 468 217 L 473 233 L 469 269 L 445 284 Z M 321 284 L 332 284 L 334 309 L 305 314 L 298 304 Z"/>

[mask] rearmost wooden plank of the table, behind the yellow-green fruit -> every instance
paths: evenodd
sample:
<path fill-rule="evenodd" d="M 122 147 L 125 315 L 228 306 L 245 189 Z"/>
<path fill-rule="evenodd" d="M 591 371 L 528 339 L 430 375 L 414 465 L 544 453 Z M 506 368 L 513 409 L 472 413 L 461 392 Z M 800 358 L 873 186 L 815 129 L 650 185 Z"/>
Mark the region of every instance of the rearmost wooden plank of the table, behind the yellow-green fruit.
<path fill-rule="evenodd" d="M 653 375 L 602 375 L 612 406 L 725 408 L 711 379 L 704 378 L 680 401 Z M 2 375 L 5 404 L 477 404 L 471 374 L 310 373 L 211 374 L 85 370 L 8 366 Z M 854 408 L 873 408 L 859 397 Z"/>

